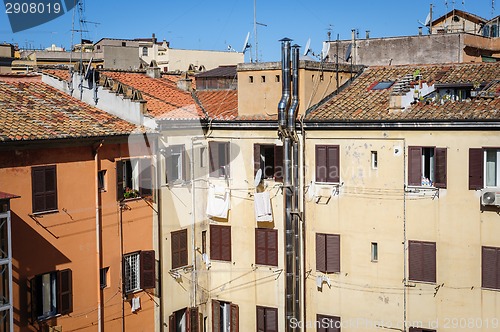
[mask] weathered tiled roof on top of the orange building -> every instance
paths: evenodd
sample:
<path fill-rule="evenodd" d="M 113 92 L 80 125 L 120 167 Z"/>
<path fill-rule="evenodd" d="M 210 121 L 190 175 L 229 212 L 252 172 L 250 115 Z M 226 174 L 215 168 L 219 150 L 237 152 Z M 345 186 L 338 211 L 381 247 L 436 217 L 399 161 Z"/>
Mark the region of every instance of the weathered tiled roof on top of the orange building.
<path fill-rule="evenodd" d="M 128 135 L 136 129 L 45 83 L 0 76 L 0 142 Z"/>

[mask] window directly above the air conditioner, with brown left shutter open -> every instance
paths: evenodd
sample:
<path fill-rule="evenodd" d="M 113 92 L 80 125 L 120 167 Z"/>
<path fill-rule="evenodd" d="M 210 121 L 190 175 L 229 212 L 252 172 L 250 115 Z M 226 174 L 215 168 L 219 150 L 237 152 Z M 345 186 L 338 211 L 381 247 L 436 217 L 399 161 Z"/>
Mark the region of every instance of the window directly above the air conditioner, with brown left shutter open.
<path fill-rule="evenodd" d="M 500 187 L 500 149 L 469 149 L 469 189 Z"/>

